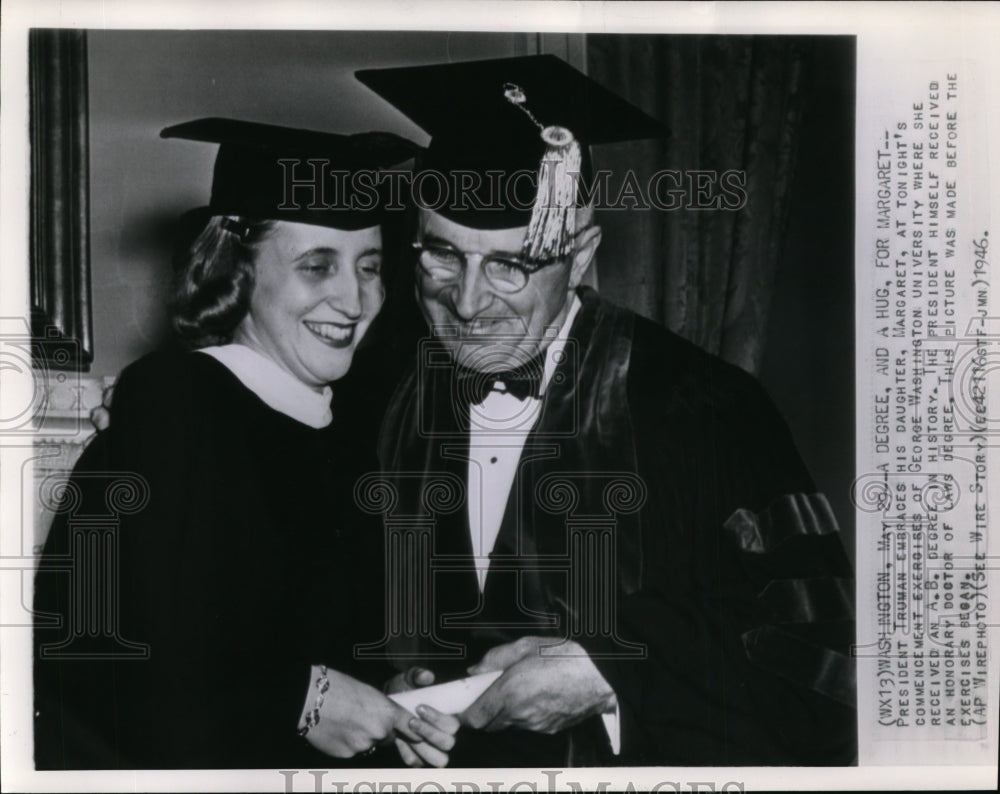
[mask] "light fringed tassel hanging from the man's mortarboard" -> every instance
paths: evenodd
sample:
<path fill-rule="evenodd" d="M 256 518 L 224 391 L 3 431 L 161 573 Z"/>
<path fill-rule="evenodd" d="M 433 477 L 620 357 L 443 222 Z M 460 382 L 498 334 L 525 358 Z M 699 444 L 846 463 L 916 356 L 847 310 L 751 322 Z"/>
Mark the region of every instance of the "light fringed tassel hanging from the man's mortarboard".
<path fill-rule="evenodd" d="M 538 192 L 522 254 L 533 260 L 556 259 L 573 251 L 576 232 L 576 180 L 580 174 L 580 144 L 565 127 L 543 127 L 525 106 L 524 90 L 504 83 L 504 96 L 541 130 L 546 144 L 538 169 Z"/>

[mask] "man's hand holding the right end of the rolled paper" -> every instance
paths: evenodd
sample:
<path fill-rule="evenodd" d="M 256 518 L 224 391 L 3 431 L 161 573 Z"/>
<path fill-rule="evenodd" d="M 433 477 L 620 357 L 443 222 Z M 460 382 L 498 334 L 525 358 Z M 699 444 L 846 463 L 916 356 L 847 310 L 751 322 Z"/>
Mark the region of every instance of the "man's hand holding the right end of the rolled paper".
<path fill-rule="evenodd" d="M 558 733 L 595 714 L 615 710 L 614 690 L 575 642 L 522 637 L 491 648 L 470 674 L 503 670 L 503 675 L 459 719 L 486 731 L 522 728 Z M 549 646 L 545 655 L 541 648 Z"/>

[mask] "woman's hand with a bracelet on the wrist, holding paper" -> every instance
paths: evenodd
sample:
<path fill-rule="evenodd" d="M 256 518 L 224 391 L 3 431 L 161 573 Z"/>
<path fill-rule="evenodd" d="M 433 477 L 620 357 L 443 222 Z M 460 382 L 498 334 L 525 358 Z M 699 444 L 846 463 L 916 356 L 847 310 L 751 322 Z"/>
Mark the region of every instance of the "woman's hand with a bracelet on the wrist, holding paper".
<path fill-rule="evenodd" d="M 320 668 L 313 667 L 312 681 L 321 677 Z M 411 751 L 403 756 L 410 766 L 448 763 L 447 752 L 455 742 L 457 719 L 433 709 L 428 709 L 426 716 L 421 714 L 424 719 L 420 719 L 374 687 L 336 670 L 328 670 L 326 679 L 329 687 L 323 693 L 319 722 L 305 735 L 317 750 L 336 758 L 351 758 L 397 738 L 405 741 Z M 300 725 L 306 724 L 306 714 L 316 707 L 317 694 L 317 688 L 310 687 Z"/>

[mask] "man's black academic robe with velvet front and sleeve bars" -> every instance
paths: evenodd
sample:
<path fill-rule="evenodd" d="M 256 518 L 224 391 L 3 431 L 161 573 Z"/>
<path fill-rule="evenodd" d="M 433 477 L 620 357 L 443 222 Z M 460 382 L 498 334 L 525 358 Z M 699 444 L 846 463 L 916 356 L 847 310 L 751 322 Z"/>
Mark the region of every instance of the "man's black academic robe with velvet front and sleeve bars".
<path fill-rule="evenodd" d="M 423 349 L 396 392 L 380 456 L 393 515 L 430 527 L 433 551 L 404 566 L 428 569 L 408 581 L 431 582 L 432 617 L 387 638 L 439 679 L 518 636 L 573 639 L 616 693 L 621 753 L 592 718 L 555 737 L 463 730 L 452 764 L 851 763 L 851 571 L 787 426 L 746 373 L 580 297 L 482 596 L 464 494 L 427 498 L 466 480 L 447 356 Z"/>

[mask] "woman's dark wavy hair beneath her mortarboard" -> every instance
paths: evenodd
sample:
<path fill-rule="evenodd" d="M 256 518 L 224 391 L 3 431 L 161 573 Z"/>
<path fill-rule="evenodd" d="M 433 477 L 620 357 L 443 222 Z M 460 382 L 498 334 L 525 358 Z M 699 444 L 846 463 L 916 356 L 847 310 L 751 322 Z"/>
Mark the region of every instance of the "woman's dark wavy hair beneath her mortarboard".
<path fill-rule="evenodd" d="M 185 344 L 199 348 L 232 341 L 250 311 L 256 247 L 276 224 L 197 211 L 181 219 L 169 312 Z"/>

